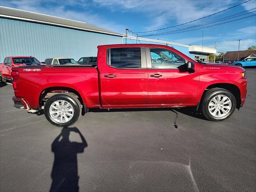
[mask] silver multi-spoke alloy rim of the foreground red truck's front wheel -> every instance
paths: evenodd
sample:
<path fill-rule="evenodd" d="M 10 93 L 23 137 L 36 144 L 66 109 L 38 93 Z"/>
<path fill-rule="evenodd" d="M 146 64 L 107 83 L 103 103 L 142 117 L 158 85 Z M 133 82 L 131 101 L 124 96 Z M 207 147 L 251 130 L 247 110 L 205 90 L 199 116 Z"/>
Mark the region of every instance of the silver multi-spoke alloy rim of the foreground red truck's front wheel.
<path fill-rule="evenodd" d="M 210 101 L 208 110 L 214 117 L 224 117 L 230 112 L 231 106 L 230 98 L 225 95 L 217 95 Z"/>

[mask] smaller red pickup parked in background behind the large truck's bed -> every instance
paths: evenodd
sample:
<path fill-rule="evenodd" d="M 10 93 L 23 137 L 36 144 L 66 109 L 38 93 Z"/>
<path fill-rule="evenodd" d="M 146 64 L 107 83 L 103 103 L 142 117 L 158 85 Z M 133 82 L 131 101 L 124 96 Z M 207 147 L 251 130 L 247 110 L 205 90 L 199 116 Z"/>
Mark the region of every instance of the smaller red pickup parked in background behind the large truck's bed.
<path fill-rule="evenodd" d="M 4 58 L 4 62 L 0 64 L 0 80 L 3 82 L 11 81 L 11 70 L 13 67 L 26 66 L 26 65 L 40 65 L 41 62 L 32 56 L 11 56 Z"/>

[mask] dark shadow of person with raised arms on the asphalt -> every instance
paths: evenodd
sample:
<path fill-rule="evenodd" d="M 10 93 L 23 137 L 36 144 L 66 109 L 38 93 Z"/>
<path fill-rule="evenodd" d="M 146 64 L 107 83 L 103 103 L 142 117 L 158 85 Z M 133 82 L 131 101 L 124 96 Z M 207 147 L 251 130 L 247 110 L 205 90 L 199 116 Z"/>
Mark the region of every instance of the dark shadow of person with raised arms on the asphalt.
<path fill-rule="evenodd" d="M 70 132 L 80 135 L 82 143 L 70 142 Z M 60 138 L 62 139 L 60 140 Z M 77 154 L 87 147 L 86 140 L 78 128 L 62 128 L 61 133 L 52 142 L 54 163 L 52 167 L 52 185 L 50 192 L 78 192 Z"/>

